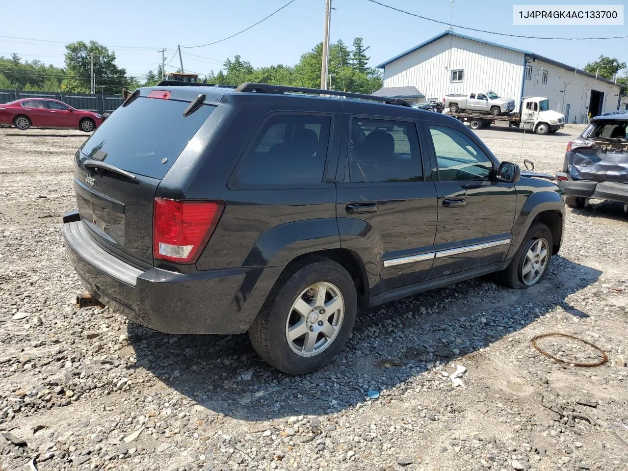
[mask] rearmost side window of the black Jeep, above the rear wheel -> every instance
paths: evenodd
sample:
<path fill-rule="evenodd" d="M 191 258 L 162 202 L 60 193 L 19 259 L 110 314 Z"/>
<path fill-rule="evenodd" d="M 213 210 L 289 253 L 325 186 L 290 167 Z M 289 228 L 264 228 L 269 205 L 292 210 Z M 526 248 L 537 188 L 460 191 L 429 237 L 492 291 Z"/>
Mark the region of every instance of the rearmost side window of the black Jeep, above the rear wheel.
<path fill-rule="evenodd" d="M 242 156 L 236 185 L 322 183 L 331 126 L 329 116 L 271 117 Z"/>

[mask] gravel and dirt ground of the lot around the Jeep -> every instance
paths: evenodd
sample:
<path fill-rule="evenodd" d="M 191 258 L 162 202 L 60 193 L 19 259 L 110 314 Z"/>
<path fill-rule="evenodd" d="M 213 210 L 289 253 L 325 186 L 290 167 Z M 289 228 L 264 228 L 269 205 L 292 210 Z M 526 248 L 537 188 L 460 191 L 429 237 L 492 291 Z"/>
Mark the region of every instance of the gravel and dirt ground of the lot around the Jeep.
<path fill-rule="evenodd" d="M 479 134 L 499 158 L 547 172 L 569 139 L 526 136 L 521 151 L 520 133 Z M 109 308 L 75 309 L 60 217 L 84 139 L 0 130 L 0 470 L 32 470 L 32 458 L 38 470 L 628 467 L 620 205 L 570 210 L 539 286 L 478 279 L 362 310 L 332 364 L 288 377 L 246 335 L 166 335 Z M 547 332 L 593 342 L 609 361 L 563 367 L 531 347 Z M 567 338 L 541 345 L 598 358 Z M 443 376 L 457 365 L 462 386 Z"/>

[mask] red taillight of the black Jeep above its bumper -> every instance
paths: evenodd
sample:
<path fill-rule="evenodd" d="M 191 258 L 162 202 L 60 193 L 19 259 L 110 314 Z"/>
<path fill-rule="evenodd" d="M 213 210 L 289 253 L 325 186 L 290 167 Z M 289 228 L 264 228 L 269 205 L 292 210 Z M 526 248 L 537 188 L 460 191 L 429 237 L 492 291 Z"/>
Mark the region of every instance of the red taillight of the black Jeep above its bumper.
<path fill-rule="evenodd" d="M 223 202 L 155 198 L 153 257 L 175 263 L 195 263 L 224 207 Z"/>

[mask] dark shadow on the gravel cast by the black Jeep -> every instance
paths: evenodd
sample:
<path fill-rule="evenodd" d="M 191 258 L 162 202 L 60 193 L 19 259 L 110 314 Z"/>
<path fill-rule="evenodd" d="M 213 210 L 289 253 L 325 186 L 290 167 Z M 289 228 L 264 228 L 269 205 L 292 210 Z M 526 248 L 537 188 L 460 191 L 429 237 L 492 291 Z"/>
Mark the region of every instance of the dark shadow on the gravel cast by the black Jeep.
<path fill-rule="evenodd" d="M 335 413 L 364 401 L 371 389 L 411 382 L 435 362 L 487 347 L 557 307 L 588 317 L 565 300 L 600 274 L 557 256 L 547 278 L 529 290 L 475 279 L 360 310 L 336 359 L 301 377 L 261 361 L 246 334 L 169 335 L 129 322 L 128 340 L 136 354 L 131 368 L 151 371 L 210 411 L 240 420 Z"/>

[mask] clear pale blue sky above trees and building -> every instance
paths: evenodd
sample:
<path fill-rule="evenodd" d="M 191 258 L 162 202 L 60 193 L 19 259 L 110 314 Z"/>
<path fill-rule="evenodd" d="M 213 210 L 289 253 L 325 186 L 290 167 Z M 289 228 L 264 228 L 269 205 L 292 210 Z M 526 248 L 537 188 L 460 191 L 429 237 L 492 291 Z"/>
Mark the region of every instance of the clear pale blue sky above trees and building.
<path fill-rule="evenodd" d="M 27 16 L 19 2 L 3 5 L 1 36 L 48 41 L 96 40 L 116 51 L 117 63 L 131 74 L 145 73 L 161 62 L 160 48 L 168 48 L 168 60 L 176 45 L 194 46 L 232 35 L 264 18 L 288 0 L 107 0 L 106 3 L 78 3 L 69 0 L 30 0 Z M 448 21 L 450 0 L 381 0 L 396 8 Z M 513 26 L 512 5 L 507 0 L 455 0 L 452 23 L 501 33 L 528 36 L 621 36 L 628 26 Z M 542 3 L 540 1 L 528 3 Z M 592 4 L 587 1 L 553 0 L 551 4 Z M 605 4 L 622 4 L 605 0 Z M 367 0 L 333 0 L 331 39 L 351 43 L 362 36 L 371 46 L 371 65 L 394 57 L 432 36 L 446 26 L 398 13 Z M 276 63 L 294 64 L 301 53 L 322 39 L 325 0 L 295 0 L 278 14 L 252 30 L 217 45 L 183 48 L 185 69 L 207 73 L 217 71 L 227 57 L 236 54 L 255 67 Z M 23 21 L 20 18 L 27 18 Z M 583 67 L 600 54 L 628 62 L 628 40 L 546 41 L 509 38 L 455 28 L 469 36 L 533 51 L 555 60 Z M 120 46 L 126 46 L 121 48 Z M 147 49 L 131 49 L 131 48 Z M 0 55 L 18 53 L 26 60 L 63 65 L 63 45 L 0 37 Z M 193 57 L 195 55 L 197 57 Z M 171 64 L 178 63 L 176 57 Z M 166 70 L 174 70 L 167 67 Z"/>

